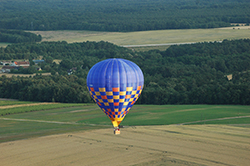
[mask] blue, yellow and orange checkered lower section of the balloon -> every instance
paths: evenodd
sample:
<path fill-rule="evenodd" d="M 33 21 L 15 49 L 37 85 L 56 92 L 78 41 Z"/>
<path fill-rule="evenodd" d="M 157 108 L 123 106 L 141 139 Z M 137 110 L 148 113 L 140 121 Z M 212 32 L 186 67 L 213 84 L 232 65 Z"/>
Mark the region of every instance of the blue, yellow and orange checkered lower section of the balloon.
<path fill-rule="evenodd" d="M 106 88 L 88 87 L 92 98 L 110 119 L 124 118 L 139 98 L 142 88 L 142 86 L 127 87 L 126 91 L 121 91 L 118 87 L 106 91 Z"/>

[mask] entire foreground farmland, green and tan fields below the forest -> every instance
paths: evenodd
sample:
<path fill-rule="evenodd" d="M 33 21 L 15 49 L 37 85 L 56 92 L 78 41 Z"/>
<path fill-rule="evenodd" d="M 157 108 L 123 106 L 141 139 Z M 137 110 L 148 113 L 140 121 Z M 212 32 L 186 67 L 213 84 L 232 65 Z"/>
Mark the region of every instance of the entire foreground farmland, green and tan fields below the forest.
<path fill-rule="evenodd" d="M 0 117 L 2 164 L 109 165 L 112 160 L 117 165 L 197 166 L 250 161 L 249 106 L 135 105 L 118 136 L 96 105 L 50 106 Z"/>

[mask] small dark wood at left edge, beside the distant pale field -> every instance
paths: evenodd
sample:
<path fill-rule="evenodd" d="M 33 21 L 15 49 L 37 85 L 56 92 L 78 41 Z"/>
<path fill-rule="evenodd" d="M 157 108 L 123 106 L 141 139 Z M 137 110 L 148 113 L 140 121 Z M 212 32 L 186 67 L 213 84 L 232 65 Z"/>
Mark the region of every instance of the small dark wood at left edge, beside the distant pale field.
<path fill-rule="evenodd" d="M 23 42 L 40 42 L 41 35 L 36 35 L 22 30 L 0 29 L 0 42 L 23 43 Z"/>

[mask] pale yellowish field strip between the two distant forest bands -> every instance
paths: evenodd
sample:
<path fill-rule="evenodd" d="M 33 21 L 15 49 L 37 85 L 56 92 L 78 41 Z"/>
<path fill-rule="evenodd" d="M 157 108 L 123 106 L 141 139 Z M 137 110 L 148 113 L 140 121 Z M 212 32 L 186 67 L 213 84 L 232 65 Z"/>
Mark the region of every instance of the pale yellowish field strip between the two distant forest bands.
<path fill-rule="evenodd" d="M 235 29 L 233 29 L 235 28 Z M 238 29 L 239 28 L 239 29 Z M 108 41 L 116 45 L 142 45 L 222 41 L 223 39 L 250 38 L 250 26 L 215 28 L 156 30 L 139 32 L 94 32 L 94 31 L 32 31 L 41 34 L 43 41 Z"/>

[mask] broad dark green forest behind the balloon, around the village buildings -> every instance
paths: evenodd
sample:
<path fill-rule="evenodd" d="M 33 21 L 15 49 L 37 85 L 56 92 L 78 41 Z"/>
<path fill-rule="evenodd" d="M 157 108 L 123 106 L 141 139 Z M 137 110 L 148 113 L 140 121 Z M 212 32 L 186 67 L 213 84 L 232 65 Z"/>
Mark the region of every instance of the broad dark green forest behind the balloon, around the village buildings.
<path fill-rule="evenodd" d="M 135 62 L 144 73 L 141 104 L 250 104 L 250 39 L 173 45 L 137 52 L 108 42 L 41 42 L 0 48 L 0 59 L 37 59 L 51 76 L 0 77 L 0 97 L 28 101 L 93 102 L 89 69 L 107 58 Z M 60 59 L 59 64 L 53 62 Z M 31 67 L 34 64 L 31 64 Z M 68 70 L 72 69 L 71 75 Z M 227 75 L 232 74 L 232 80 Z"/>

